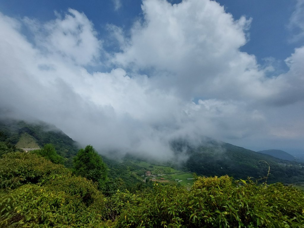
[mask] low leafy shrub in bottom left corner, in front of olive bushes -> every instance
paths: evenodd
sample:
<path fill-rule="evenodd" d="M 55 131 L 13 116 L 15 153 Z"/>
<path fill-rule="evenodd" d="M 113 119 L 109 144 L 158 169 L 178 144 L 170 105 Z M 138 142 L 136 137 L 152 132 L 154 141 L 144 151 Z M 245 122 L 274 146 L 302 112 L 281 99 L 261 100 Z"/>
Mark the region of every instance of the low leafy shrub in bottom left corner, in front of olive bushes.
<path fill-rule="evenodd" d="M 103 217 L 79 195 L 23 185 L 0 202 L 0 227 L 99 227 Z"/>

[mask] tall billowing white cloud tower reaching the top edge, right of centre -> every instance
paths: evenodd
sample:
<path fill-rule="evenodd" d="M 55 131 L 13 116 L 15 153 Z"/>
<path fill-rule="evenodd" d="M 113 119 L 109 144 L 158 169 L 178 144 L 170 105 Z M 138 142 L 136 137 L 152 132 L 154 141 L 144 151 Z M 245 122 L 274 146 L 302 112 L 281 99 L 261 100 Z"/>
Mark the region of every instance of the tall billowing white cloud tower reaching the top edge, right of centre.
<path fill-rule="evenodd" d="M 239 51 L 251 19 L 234 20 L 214 1 L 147 0 L 142 9 L 144 21 L 133 26 L 116 64 L 147 70 L 157 86 L 175 88 L 186 99 L 264 99 L 277 93 L 263 85 L 255 57 Z"/>

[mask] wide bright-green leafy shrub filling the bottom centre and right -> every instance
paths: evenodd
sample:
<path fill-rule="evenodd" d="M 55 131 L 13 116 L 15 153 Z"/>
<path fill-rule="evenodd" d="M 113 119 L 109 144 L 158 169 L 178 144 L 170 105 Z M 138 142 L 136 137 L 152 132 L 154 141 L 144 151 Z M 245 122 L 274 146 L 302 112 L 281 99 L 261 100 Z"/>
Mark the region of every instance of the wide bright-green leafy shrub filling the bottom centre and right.
<path fill-rule="evenodd" d="M 155 185 L 124 205 L 116 227 L 304 227 L 304 193 L 227 176 L 198 178 L 191 191 Z"/>

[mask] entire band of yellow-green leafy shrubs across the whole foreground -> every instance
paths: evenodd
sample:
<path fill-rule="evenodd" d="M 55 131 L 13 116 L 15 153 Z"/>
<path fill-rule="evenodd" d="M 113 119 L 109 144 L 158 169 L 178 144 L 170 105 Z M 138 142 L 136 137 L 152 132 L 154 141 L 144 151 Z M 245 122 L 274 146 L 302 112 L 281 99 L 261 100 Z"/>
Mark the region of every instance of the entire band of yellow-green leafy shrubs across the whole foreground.
<path fill-rule="evenodd" d="M 280 183 L 198 177 L 105 196 L 37 154 L 0 159 L 0 227 L 304 227 L 304 193 Z"/>

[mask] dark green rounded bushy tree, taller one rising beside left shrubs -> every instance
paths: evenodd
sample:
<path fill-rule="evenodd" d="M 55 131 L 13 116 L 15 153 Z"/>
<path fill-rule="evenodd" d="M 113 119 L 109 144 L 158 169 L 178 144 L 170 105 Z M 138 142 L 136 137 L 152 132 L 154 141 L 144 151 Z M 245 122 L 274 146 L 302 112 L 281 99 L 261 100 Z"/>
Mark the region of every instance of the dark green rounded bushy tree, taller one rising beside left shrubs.
<path fill-rule="evenodd" d="M 107 177 L 107 167 L 91 145 L 78 151 L 73 159 L 73 167 L 74 174 L 98 182 L 99 187 Z"/>

